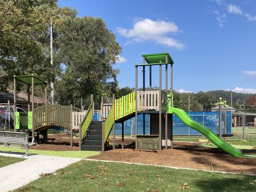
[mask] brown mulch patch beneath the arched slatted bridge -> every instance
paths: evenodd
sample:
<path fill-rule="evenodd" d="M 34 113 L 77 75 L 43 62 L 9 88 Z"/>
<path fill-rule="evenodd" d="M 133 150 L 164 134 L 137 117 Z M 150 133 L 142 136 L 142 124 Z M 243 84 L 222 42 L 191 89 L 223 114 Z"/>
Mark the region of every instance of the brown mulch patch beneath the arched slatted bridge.
<path fill-rule="evenodd" d="M 37 146 L 30 146 L 30 149 L 70 151 L 78 150 L 78 138 L 73 135 L 73 148 L 70 146 L 70 134 L 49 134 L 47 143 L 39 143 Z"/>

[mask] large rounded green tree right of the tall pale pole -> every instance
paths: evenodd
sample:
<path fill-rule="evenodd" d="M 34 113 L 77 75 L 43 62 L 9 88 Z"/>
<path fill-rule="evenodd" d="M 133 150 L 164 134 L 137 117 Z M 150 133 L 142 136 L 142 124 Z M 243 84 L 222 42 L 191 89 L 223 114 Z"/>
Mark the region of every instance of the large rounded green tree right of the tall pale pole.
<path fill-rule="evenodd" d="M 113 65 L 122 48 L 106 23 L 100 18 L 70 15 L 57 33 L 62 69 L 55 82 L 58 102 L 67 105 L 81 97 L 89 102 L 94 94 L 99 105 L 101 96 L 115 93 L 119 71 Z"/>

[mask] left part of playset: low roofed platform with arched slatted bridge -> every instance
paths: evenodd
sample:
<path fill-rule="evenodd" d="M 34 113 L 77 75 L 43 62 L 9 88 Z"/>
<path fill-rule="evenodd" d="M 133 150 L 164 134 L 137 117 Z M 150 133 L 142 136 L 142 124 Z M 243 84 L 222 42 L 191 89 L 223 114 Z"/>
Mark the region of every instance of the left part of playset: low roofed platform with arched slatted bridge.
<path fill-rule="evenodd" d="M 28 112 L 21 113 L 17 112 L 17 81 L 25 83 L 28 87 Z M 61 105 L 47 105 L 47 83 L 42 79 L 34 75 L 23 75 L 23 76 L 14 76 L 13 77 L 14 85 L 14 129 L 20 131 L 29 131 L 31 138 L 35 138 L 35 132 L 37 132 L 36 139 L 39 139 L 39 134 L 43 135 L 43 141 L 47 141 L 47 130 L 59 126 L 67 130 L 70 130 L 70 145 L 73 146 L 73 131 L 74 122 L 81 121 L 81 117 L 85 113 L 77 113 L 79 109 L 70 106 L 61 106 Z M 34 105 L 34 89 L 35 85 L 45 86 L 45 105 L 38 106 L 35 108 Z M 30 106 L 30 87 L 31 87 L 31 106 Z M 79 114 L 79 116 L 78 116 Z M 74 116 L 77 118 L 75 119 Z M 80 117 L 80 118 L 79 118 Z M 72 121 L 73 120 L 73 121 Z"/>

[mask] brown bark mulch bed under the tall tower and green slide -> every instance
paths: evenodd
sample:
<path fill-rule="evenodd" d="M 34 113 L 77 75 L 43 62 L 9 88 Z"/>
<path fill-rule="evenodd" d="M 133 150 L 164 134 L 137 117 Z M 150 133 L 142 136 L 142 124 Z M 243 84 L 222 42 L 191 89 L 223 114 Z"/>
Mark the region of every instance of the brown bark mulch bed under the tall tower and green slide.
<path fill-rule="evenodd" d="M 127 146 L 132 145 L 134 142 L 134 139 L 125 138 L 125 140 Z M 116 143 L 120 141 L 121 139 L 116 139 Z M 255 158 L 236 158 L 218 148 L 199 147 L 198 145 L 200 144 L 175 141 L 173 149 L 162 151 L 135 151 L 131 148 L 117 148 L 116 150 L 107 150 L 90 158 L 256 174 Z M 256 150 L 243 150 L 243 153 L 256 153 Z"/>

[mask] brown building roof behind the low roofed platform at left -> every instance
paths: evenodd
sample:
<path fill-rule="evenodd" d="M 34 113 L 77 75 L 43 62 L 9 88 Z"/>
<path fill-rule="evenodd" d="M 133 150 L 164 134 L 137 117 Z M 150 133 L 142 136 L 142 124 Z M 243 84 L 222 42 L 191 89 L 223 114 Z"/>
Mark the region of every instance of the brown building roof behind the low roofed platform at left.
<path fill-rule="evenodd" d="M 32 98 L 32 95 L 30 95 L 30 98 Z M 27 104 L 28 103 L 28 94 L 20 91 L 17 92 L 17 103 L 18 104 Z M 0 92 L 0 102 L 5 103 L 7 101 L 10 101 L 13 103 L 13 89 L 7 88 L 7 92 Z M 44 98 L 39 98 L 39 97 L 34 97 L 34 102 L 38 104 L 45 104 L 45 99 Z M 31 101 L 30 101 L 31 103 Z M 47 103 L 50 104 L 50 101 L 47 100 Z"/>

